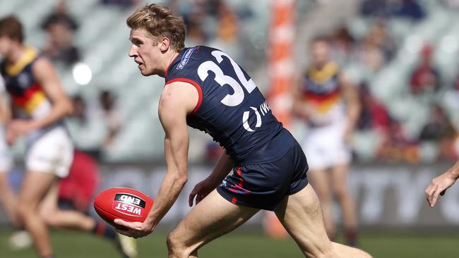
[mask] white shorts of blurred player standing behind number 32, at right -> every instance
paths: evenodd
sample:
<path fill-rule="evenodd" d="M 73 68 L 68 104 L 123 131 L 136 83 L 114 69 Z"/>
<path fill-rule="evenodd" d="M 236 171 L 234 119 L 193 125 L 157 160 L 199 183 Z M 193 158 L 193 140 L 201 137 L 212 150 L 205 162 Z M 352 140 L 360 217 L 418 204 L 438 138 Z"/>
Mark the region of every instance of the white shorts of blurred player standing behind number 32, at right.
<path fill-rule="evenodd" d="M 309 171 L 349 164 L 351 152 L 345 142 L 344 134 L 345 123 L 309 128 L 302 144 Z"/>

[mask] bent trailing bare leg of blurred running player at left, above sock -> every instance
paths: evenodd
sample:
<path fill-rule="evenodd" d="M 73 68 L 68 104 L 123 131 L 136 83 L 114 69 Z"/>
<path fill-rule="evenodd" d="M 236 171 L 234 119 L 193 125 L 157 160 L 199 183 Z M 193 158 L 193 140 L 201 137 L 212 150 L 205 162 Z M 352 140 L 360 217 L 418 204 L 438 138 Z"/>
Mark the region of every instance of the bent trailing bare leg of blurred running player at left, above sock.
<path fill-rule="evenodd" d="M 79 211 L 63 211 L 57 207 L 59 184 L 54 183 L 40 207 L 40 216 L 48 226 L 56 228 L 78 229 L 92 231 L 95 220 Z"/>

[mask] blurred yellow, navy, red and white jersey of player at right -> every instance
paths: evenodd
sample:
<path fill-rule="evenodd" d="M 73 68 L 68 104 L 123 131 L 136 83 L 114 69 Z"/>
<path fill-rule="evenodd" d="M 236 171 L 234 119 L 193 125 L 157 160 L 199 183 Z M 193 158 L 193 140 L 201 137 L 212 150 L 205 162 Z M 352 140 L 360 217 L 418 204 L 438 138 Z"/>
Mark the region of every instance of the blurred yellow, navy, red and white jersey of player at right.
<path fill-rule="evenodd" d="M 309 68 L 304 75 L 302 93 L 313 109 L 312 116 L 308 118 L 313 126 L 328 125 L 345 118 L 338 73 L 338 65 L 329 62 L 321 69 Z"/>

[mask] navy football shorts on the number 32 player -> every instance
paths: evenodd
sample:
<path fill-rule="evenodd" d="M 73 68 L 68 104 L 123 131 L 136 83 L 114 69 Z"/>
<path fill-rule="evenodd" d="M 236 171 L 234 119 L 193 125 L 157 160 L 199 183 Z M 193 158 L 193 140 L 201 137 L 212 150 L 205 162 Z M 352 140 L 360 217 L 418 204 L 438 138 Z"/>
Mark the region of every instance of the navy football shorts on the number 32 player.
<path fill-rule="evenodd" d="M 234 167 L 217 192 L 237 205 L 275 211 L 286 195 L 306 187 L 307 170 L 306 156 L 293 140 L 290 149 L 279 159 Z"/>

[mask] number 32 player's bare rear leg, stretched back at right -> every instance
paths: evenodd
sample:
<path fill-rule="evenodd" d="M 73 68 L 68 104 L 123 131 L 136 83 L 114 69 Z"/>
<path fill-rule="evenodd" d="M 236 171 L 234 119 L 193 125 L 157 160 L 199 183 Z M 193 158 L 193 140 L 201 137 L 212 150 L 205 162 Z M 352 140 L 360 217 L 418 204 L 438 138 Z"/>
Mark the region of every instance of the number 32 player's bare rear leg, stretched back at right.
<path fill-rule="evenodd" d="M 371 258 L 362 250 L 330 242 L 321 205 L 311 185 L 285 197 L 276 214 L 306 257 Z"/>

